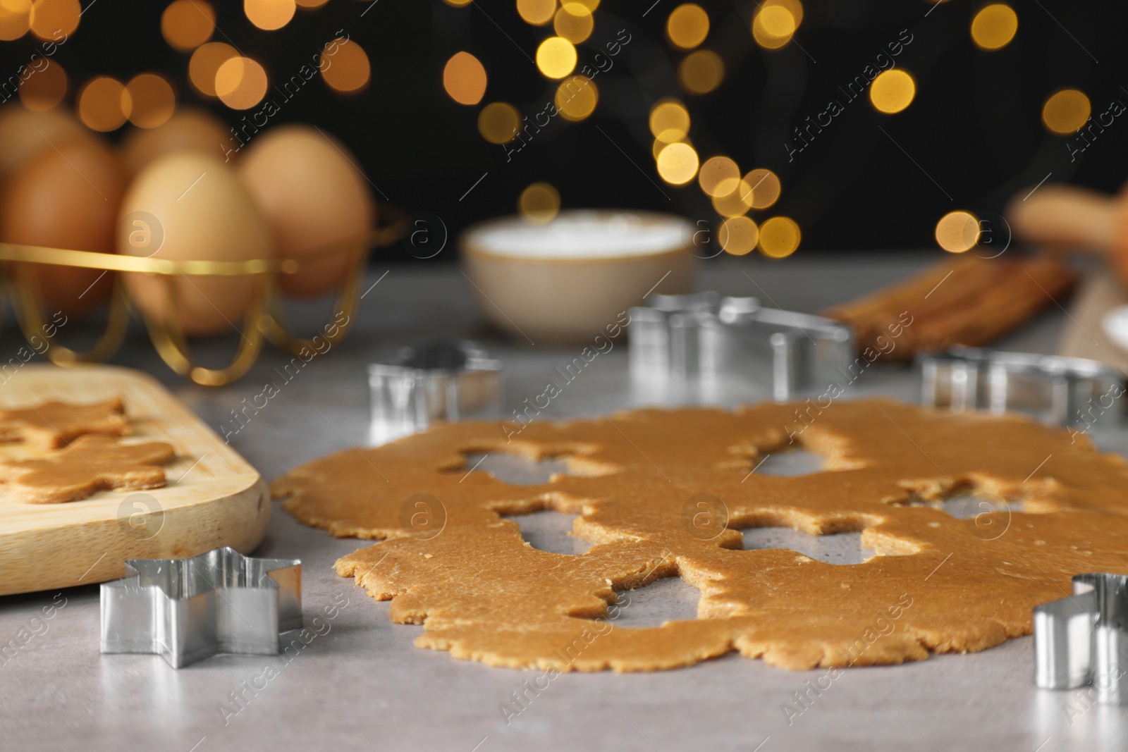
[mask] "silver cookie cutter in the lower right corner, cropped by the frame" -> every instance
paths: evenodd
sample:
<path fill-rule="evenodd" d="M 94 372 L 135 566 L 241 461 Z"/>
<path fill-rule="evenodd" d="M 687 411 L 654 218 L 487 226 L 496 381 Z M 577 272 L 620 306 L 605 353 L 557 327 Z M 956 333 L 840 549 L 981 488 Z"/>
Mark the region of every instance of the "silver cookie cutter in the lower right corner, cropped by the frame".
<path fill-rule="evenodd" d="M 1128 705 L 1128 576 L 1077 575 L 1072 596 L 1034 608 L 1034 683 Z"/>

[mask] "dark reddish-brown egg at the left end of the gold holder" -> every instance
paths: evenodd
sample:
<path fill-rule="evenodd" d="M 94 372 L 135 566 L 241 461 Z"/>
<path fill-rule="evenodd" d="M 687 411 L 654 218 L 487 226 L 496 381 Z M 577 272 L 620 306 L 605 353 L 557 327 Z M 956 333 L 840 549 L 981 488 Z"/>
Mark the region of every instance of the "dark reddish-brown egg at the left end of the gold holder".
<path fill-rule="evenodd" d="M 0 238 L 8 242 L 114 253 L 114 222 L 125 178 L 109 147 L 95 136 L 58 140 L 25 161 L 0 202 Z M 20 264 L 19 284 L 44 303 L 82 313 L 109 295 L 113 275 L 49 264 Z M 50 311 L 49 311 L 50 312 Z"/>

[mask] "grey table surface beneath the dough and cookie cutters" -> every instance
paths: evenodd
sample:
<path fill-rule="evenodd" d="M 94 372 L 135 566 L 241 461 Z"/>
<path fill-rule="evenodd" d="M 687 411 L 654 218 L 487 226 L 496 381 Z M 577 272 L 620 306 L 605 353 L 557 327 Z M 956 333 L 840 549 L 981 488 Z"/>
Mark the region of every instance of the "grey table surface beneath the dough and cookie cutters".
<path fill-rule="evenodd" d="M 699 286 L 813 312 L 934 260 L 935 254 L 908 251 L 799 254 L 785 263 L 725 259 L 703 267 Z M 232 445 L 272 479 L 299 462 L 368 441 L 364 364 L 389 343 L 439 334 L 484 342 L 505 362 L 510 405 L 539 393 L 552 370 L 578 353 L 575 346 L 530 347 L 492 334 L 469 285 L 452 266 L 393 267 L 381 276 L 386 269 L 371 268 L 365 289 L 377 280 L 379 284 L 365 294 L 355 330 L 291 381 L 275 371 L 285 362 L 283 355 L 266 350 L 241 381 L 215 390 L 195 387 L 171 374 L 139 333 L 115 362 L 156 375 L 217 432 L 231 425 L 229 410 L 243 399 L 267 382 L 279 384 L 277 396 L 231 437 Z M 321 313 L 318 306 L 309 306 L 298 318 L 316 326 Z M 1061 310 L 1051 308 L 999 345 L 1050 353 L 1063 326 L 1072 324 Z M 10 331 L 3 336 L 8 346 L 15 346 Z M 204 344 L 203 356 L 218 359 L 223 346 Z M 849 389 L 848 397 L 916 396 L 911 370 L 880 363 Z M 732 384 L 710 401 L 735 405 L 760 398 L 755 390 Z M 569 384 L 545 416 L 596 415 L 597 409 L 652 400 L 653 396 L 632 389 L 626 344 L 620 342 Z M 1120 434 L 1110 433 L 1101 442 L 1122 450 Z M 546 514 L 553 515 L 540 513 L 522 521 L 529 540 L 549 549 L 575 545 L 563 534 L 567 524 L 562 528 L 559 520 L 544 519 Z M 805 547 L 826 560 L 857 560 L 856 538 L 835 538 L 819 541 L 775 531 L 760 540 L 750 536 L 748 545 Z M 327 609 L 334 614 L 289 662 L 221 655 L 177 671 L 158 656 L 100 655 L 96 586 L 0 599 L 0 644 L 23 628 L 36 627 L 33 639 L 0 660 L 0 749 L 1128 749 L 1125 708 L 1093 706 L 1082 690 L 1050 692 L 1033 687 L 1030 637 L 977 654 L 848 669 L 790 719 L 782 706 L 799 707 L 793 693 L 822 672 L 783 671 L 735 654 L 650 674 L 564 674 L 519 715 L 506 718 L 500 706 L 514 707 L 511 692 L 538 674 L 415 648 L 412 640 L 422 627 L 391 623 L 387 602 L 367 598 L 351 580 L 334 574 L 334 560 L 363 545 L 305 528 L 275 506 L 256 555 L 301 558 L 307 625 Z M 693 618 L 694 593 L 678 578 L 635 591 L 623 609 L 622 626 Z M 50 620 L 33 622 L 52 603 L 63 605 Z M 268 681 L 262 679 L 267 665 L 276 667 Z M 252 687 L 264 683 L 262 689 Z M 243 699 L 236 702 L 238 695 Z"/>

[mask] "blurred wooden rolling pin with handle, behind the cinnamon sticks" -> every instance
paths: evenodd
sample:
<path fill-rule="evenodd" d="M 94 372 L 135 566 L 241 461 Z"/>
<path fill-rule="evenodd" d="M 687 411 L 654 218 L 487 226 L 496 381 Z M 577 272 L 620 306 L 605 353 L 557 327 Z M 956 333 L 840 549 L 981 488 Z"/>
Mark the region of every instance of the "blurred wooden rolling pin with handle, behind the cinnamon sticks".
<path fill-rule="evenodd" d="M 1016 239 L 1099 253 L 1128 287 L 1128 187 L 1110 196 L 1051 183 L 1015 194 L 1005 213 Z"/>

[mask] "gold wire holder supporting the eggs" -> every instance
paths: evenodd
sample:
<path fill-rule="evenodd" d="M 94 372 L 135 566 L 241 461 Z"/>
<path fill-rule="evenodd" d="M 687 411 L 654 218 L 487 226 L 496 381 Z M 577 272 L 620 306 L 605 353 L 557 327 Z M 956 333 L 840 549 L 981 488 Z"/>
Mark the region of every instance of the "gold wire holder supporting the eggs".
<path fill-rule="evenodd" d="M 385 213 L 391 213 L 386 212 Z M 108 272 L 126 272 L 159 275 L 165 286 L 168 300 L 164 318 L 158 318 L 139 307 L 125 292 L 121 274 L 114 275 L 113 291 L 109 298 L 109 310 L 106 327 L 97 340 L 88 350 L 76 351 L 61 344 L 52 343 L 44 352 L 47 359 L 61 366 L 72 366 L 82 363 L 100 363 L 109 360 L 125 342 L 131 315 L 144 321 L 149 339 L 161 360 L 176 373 L 187 377 L 193 382 L 205 387 L 222 387 L 241 378 L 258 357 L 263 340 L 301 356 L 308 352 L 320 352 L 328 343 L 333 346 L 341 342 L 352 328 L 360 303 L 360 281 L 363 276 L 364 262 L 370 248 L 394 242 L 403 235 L 404 218 L 394 213 L 390 221 L 382 227 L 344 242 L 334 244 L 310 254 L 308 259 L 252 259 L 245 262 L 209 262 L 209 260 L 170 260 L 118 254 L 100 254 L 88 250 L 67 250 L 62 248 L 45 248 L 42 246 L 24 246 L 0 242 L 0 262 L 3 264 L 5 284 L 12 299 L 16 321 L 28 344 L 35 347 L 36 339 L 42 340 L 44 333 L 51 327 L 44 316 L 43 301 L 35 284 L 20 284 L 23 276 L 19 268 L 23 263 L 51 264 L 76 268 L 102 269 Z M 277 275 L 296 274 L 308 264 L 321 262 L 336 255 L 349 254 L 349 266 L 344 280 L 337 286 L 331 321 L 344 322 L 333 327 L 323 327 L 318 335 L 323 344 L 317 346 L 311 339 L 297 337 L 290 333 L 282 310 L 282 297 L 279 293 Z M 177 320 L 179 306 L 179 285 L 175 284 L 177 276 L 250 276 L 255 277 L 255 289 L 244 315 L 243 327 L 239 328 L 239 345 L 231 362 L 220 369 L 199 365 L 193 356 L 188 339 Z M 332 330 L 332 333 L 331 333 Z"/>

